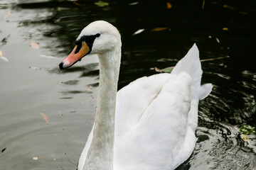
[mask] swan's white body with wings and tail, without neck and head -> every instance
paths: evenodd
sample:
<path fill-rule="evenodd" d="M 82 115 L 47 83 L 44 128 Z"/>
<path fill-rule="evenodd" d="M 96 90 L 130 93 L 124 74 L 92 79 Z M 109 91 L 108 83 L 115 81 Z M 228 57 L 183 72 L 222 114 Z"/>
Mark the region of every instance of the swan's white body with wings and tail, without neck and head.
<path fill-rule="evenodd" d="M 201 86 L 202 73 L 193 45 L 171 74 L 142 77 L 118 91 L 115 170 L 171 170 L 188 159 L 196 143 L 198 101 L 212 89 L 211 84 Z M 85 162 L 92 132 L 78 169 Z"/>

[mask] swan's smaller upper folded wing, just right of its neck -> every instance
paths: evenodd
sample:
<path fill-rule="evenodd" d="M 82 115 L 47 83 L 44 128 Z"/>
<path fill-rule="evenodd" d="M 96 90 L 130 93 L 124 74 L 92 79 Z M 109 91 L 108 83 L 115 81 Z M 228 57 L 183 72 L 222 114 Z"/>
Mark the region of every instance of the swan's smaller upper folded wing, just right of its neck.
<path fill-rule="evenodd" d="M 143 113 L 159 95 L 170 74 L 156 74 L 133 81 L 117 92 L 115 134 L 123 134 L 137 125 Z"/>

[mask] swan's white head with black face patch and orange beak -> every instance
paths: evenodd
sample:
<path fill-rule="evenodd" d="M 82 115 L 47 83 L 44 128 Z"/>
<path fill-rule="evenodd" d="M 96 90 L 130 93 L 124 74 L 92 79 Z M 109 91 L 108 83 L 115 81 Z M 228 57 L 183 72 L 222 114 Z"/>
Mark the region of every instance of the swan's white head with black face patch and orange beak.
<path fill-rule="evenodd" d="M 89 54 L 103 54 L 121 46 L 120 34 L 106 21 L 95 21 L 86 26 L 75 40 L 73 51 L 60 62 L 60 69 L 71 67 Z"/>

